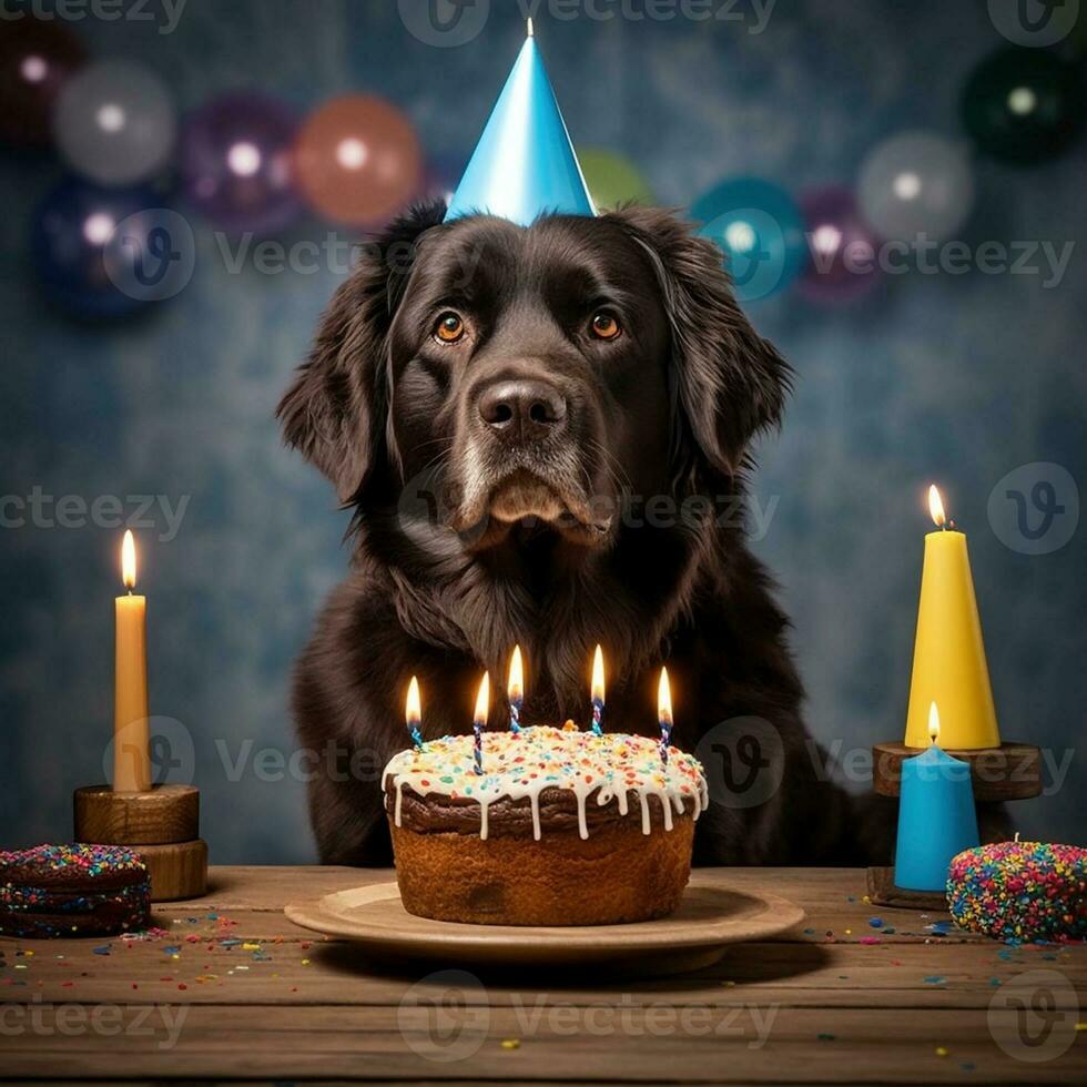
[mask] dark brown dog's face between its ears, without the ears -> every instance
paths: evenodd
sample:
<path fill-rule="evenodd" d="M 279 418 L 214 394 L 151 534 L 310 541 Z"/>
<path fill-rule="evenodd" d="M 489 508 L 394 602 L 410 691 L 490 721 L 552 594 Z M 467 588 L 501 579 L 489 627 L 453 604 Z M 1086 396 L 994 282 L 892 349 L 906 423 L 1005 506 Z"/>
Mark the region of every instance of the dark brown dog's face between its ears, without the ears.
<path fill-rule="evenodd" d="M 599 544 L 621 486 L 664 487 L 668 343 L 653 270 L 618 223 L 441 228 L 389 334 L 403 471 L 444 454 L 443 505 L 476 544 L 541 522 Z"/>

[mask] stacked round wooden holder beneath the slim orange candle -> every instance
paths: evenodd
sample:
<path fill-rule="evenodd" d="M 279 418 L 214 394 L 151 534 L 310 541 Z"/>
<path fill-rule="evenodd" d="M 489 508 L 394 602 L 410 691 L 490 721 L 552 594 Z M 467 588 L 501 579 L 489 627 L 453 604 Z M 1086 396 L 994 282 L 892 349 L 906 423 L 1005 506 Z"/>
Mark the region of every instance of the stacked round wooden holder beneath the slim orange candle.
<path fill-rule="evenodd" d="M 155 785 L 115 793 L 85 785 L 73 796 L 75 840 L 126 845 L 151 870 L 151 901 L 195 898 L 207 891 L 207 845 L 200 837 L 200 790 Z"/>

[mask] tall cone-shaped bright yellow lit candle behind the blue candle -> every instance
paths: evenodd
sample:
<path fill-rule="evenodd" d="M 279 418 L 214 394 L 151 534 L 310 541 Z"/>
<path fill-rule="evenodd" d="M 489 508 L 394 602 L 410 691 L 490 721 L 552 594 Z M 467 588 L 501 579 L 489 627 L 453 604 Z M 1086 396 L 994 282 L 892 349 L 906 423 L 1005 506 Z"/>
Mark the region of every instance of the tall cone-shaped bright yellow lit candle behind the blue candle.
<path fill-rule="evenodd" d="M 928 490 L 928 505 L 936 531 L 925 537 L 905 743 L 928 746 L 928 709 L 936 702 L 945 722 L 945 749 L 996 748 L 1000 734 L 966 536 L 947 527 L 935 486 Z"/>

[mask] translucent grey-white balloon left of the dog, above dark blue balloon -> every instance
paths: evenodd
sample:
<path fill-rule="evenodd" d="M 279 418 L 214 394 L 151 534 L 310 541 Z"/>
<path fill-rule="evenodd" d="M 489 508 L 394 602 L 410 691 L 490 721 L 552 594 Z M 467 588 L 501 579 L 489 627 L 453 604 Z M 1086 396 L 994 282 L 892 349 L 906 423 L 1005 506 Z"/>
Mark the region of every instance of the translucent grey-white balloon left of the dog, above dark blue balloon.
<path fill-rule="evenodd" d="M 61 89 L 53 113 L 60 152 L 102 185 L 131 185 L 161 170 L 176 120 L 165 85 L 128 61 L 89 64 Z"/>

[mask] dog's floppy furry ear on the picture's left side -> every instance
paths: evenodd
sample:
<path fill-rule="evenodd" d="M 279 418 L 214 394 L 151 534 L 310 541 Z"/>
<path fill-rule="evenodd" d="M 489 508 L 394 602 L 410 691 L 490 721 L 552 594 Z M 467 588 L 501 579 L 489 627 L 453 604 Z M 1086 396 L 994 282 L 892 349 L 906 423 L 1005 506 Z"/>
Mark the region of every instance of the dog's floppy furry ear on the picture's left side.
<path fill-rule="evenodd" d="M 308 359 L 280 402 L 284 439 L 357 501 L 380 459 L 388 414 L 388 331 L 412 272 L 415 243 L 445 216 L 413 207 L 363 246 L 321 318 Z"/>

